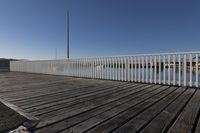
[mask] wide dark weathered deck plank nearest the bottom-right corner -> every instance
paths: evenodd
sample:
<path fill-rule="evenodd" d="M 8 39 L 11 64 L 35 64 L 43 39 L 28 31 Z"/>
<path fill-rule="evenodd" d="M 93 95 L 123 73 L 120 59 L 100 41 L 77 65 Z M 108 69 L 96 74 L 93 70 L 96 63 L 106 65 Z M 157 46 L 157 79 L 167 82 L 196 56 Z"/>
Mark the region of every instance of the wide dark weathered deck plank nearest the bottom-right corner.
<path fill-rule="evenodd" d="M 194 130 L 194 125 L 200 109 L 200 90 L 197 89 L 194 96 L 179 115 L 175 123 L 168 130 L 170 133 L 190 133 Z"/>

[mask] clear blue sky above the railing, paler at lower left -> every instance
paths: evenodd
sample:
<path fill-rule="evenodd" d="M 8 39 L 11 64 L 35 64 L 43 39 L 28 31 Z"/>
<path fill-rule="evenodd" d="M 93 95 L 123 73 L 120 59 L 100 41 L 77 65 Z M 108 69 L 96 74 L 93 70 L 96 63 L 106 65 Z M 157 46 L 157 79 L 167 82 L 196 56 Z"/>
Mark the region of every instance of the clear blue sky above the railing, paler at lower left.
<path fill-rule="evenodd" d="M 91 57 L 200 50 L 200 0 L 0 0 L 0 57 Z"/>

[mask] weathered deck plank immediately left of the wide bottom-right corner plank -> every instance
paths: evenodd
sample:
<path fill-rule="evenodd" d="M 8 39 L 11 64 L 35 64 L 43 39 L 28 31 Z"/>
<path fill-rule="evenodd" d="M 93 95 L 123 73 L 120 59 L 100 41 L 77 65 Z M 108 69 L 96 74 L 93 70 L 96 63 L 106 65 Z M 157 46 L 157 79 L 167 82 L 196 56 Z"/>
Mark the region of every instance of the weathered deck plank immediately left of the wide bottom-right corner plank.
<path fill-rule="evenodd" d="M 176 120 L 183 108 L 193 96 L 195 89 L 187 89 L 177 100 L 164 109 L 155 119 L 153 119 L 141 133 L 161 133 L 166 132 L 171 124 Z"/>

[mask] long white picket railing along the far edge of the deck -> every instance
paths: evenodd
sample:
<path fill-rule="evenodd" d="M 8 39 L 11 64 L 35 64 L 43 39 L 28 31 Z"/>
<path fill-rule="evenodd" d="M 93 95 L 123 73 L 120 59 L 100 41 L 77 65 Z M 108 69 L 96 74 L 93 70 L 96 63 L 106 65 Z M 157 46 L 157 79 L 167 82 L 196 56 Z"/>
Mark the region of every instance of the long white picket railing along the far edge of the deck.
<path fill-rule="evenodd" d="M 11 71 L 200 87 L 200 52 L 11 61 Z"/>

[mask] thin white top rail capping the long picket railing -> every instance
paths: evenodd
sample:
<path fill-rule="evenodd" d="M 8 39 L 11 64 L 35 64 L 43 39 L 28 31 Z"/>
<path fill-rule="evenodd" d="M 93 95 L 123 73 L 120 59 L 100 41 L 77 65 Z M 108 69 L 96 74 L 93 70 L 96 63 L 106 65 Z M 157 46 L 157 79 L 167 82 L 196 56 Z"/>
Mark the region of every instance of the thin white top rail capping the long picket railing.
<path fill-rule="evenodd" d="M 138 57 L 138 56 L 167 56 L 167 55 L 185 55 L 185 54 L 200 54 L 200 51 L 190 51 L 190 52 L 171 52 L 171 53 L 152 53 L 152 54 L 135 54 L 135 55 L 116 55 L 116 56 L 95 56 L 95 57 L 75 57 L 70 59 L 58 59 L 58 60 L 21 60 L 21 62 L 39 62 L 39 61 L 66 61 L 74 59 L 96 59 L 96 58 L 120 58 L 120 57 Z M 15 61 L 11 61 L 15 62 Z"/>

